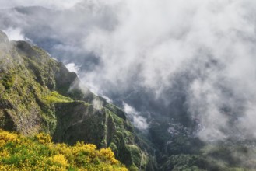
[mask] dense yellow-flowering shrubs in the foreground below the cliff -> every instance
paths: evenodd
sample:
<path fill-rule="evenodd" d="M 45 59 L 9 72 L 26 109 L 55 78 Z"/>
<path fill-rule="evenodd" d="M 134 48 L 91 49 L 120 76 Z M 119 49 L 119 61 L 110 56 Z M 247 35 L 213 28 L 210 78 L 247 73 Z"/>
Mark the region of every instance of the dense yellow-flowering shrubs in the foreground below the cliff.
<path fill-rule="evenodd" d="M 0 170 L 128 170 L 110 148 L 77 142 L 54 144 L 51 136 L 33 137 L 0 130 Z"/>

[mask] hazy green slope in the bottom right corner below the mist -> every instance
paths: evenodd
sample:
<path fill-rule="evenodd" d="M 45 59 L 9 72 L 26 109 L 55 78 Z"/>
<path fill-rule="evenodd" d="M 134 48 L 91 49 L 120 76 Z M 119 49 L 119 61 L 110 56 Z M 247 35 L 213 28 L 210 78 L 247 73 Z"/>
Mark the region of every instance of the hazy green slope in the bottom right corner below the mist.
<path fill-rule="evenodd" d="M 250 149 L 250 151 L 249 151 Z M 223 170 L 253 171 L 256 168 L 254 145 L 223 142 L 205 145 L 198 154 L 170 155 L 164 159 L 162 170 Z"/>

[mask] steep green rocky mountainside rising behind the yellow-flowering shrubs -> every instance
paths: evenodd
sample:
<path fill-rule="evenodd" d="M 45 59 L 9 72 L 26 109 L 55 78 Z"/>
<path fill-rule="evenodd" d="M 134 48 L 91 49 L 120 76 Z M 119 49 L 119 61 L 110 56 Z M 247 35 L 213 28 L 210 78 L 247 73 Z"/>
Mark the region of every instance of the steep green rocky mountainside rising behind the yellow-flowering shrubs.
<path fill-rule="evenodd" d="M 153 169 L 125 113 L 92 92 L 83 93 L 77 82 L 75 72 L 47 52 L 25 41 L 9 42 L 0 31 L 1 128 L 110 147 L 126 166 Z"/>

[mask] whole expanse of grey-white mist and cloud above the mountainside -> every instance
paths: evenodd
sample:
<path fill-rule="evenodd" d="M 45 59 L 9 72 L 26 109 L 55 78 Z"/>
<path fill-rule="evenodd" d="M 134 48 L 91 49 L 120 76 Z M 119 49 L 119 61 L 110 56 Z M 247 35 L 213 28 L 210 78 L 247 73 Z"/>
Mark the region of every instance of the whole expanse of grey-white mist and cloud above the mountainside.
<path fill-rule="evenodd" d="M 18 30 L 72 64 L 93 92 L 130 106 L 135 127 L 163 117 L 192 120 L 202 141 L 256 138 L 256 2 L 41 2 L 36 11 L 3 9 L 1 29 Z M 29 4 L 4 7 L 18 5 Z"/>

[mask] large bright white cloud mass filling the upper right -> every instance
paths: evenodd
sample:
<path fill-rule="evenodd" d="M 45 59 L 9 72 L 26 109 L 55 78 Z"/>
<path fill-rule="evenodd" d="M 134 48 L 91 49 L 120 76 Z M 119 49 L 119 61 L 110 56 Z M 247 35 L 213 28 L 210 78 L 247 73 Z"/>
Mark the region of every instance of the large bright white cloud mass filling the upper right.
<path fill-rule="evenodd" d="M 204 127 L 199 132 L 203 140 L 223 139 L 241 130 L 238 125 L 245 122 L 237 120 L 233 129 L 229 115 L 256 119 L 256 113 L 238 110 L 256 99 L 256 24 L 252 17 L 256 2 L 124 3 L 124 9 L 114 16 L 119 21 L 114 30 L 96 28 L 85 38 L 87 51 L 100 56 L 103 63 L 85 76 L 86 82 L 106 91 L 125 92 L 140 86 L 152 89 L 159 98 L 183 72 L 191 77 L 187 103 L 192 117 Z M 231 112 L 226 113 L 227 109 Z M 247 131 L 248 127 L 253 128 L 247 126 Z"/>

